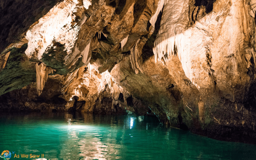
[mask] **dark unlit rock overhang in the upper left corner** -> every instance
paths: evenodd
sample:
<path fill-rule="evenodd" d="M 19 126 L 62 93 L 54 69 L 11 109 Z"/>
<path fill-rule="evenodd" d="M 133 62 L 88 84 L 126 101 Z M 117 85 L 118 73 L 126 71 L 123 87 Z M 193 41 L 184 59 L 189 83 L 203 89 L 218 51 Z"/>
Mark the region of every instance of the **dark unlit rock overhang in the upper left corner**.
<path fill-rule="evenodd" d="M 10 44 L 17 44 L 23 33 L 45 15 L 60 0 L 1 0 L 0 52 Z"/>

